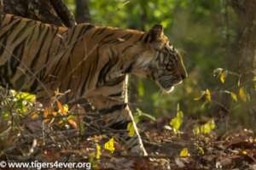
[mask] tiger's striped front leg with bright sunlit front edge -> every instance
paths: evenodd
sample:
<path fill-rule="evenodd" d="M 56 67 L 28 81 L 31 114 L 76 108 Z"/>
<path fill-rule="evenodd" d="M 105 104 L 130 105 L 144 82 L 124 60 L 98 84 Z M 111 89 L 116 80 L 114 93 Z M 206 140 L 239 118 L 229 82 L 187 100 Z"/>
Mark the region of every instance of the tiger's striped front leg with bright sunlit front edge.
<path fill-rule="evenodd" d="M 115 139 L 117 139 L 119 144 L 124 145 L 125 149 L 131 152 L 131 154 L 140 156 L 148 155 L 144 149 L 143 141 L 138 133 L 131 110 L 125 102 L 109 99 L 108 97 L 95 96 L 90 98 L 90 103 L 101 115 L 102 121 L 99 126 L 103 130 L 107 130 L 107 132 L 113 130 Z M 127 129 L 128 125 L 133 132 L 129 132 Z"/>

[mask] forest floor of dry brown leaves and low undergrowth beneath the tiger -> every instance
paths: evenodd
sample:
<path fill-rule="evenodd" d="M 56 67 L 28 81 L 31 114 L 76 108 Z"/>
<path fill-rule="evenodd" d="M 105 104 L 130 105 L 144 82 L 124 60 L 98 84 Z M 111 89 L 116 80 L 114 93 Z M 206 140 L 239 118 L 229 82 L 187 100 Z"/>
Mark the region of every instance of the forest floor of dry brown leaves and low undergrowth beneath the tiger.
<path fill-rule="evenodd" d="M 143 119 L 137 124 L 148 156 L 134 156 L 116 142 L 114 136 L 119 131 L 93 129 L 92 121 L 102 120 L 102 116 L 68 109 L 56 99 L 50 108 L 43 108 L 28 102 L 32 95 L 3 94 L 0 170 L 8 169 L 1 167 L 3 161 L 88 162 L 90 167 L 83 169 L 108 170 L 256 170 L 256 136 L 252 130 L 230 127 L 218 133 L 220 126 L 215 122 L 195 128 L 193 120 L 183 122 L 183 114 L 155 121 Z M 132 133 L 132 128 L 127 130 Z"/>

